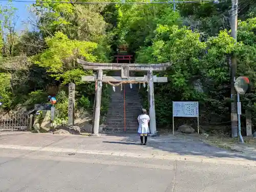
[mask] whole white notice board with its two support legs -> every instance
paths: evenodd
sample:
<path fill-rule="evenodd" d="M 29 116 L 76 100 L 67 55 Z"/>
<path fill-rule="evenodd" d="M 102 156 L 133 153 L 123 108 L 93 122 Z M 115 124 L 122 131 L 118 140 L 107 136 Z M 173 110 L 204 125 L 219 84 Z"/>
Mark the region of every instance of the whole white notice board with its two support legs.
<path fill-rule="evenodd" d="M 180 108 L 179 110 L 177 110 L 177 106 Z M 191 109 L 193 107 L 194 109 Z M 186 113 L 187 108 L 190 108 L 191 110 L 190 113 Z M 189 117 L 189 118 L 196 117 L 197 132 L 199 134 L 199 102 L 198 101 L 173 101 L 173 135 L 174 135 L 174 117 Z"/>

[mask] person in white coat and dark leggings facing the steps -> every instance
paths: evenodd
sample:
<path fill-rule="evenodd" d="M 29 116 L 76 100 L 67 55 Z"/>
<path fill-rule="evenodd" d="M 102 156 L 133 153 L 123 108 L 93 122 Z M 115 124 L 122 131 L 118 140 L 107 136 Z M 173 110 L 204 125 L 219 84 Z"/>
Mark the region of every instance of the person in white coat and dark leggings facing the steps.
<path fill-rule="evenodd" d="M 138 116 L 138 122 L 138 133 L 140 134 L 141 144 L 146 145 L 147 134 L 150 133 L 150 129 L 148 129 L 148 122 L 150 122 L 150 116 L 146 114 L 145 109 L 142 109 L 142 114 Z"/>

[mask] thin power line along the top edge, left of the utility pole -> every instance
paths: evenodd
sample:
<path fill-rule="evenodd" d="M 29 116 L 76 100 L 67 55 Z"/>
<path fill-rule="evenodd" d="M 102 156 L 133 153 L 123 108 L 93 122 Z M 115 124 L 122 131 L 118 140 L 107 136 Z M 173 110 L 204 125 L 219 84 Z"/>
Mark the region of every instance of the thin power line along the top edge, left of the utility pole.
<path fill-rule="evenodd" d="M 53 3 L 53 4 L 176 4 L 176 3 L 226 3 L 230 0 L 194 0 L 194 1 L 168 1 L 168 2 L 57 2 L 57 1 L 28 1 L 28 0 L 12 0 L 12 2 L 20 2 L 20 3 Z M 0 2 L 9 2 L 9 0 L 0 0 Z"/>

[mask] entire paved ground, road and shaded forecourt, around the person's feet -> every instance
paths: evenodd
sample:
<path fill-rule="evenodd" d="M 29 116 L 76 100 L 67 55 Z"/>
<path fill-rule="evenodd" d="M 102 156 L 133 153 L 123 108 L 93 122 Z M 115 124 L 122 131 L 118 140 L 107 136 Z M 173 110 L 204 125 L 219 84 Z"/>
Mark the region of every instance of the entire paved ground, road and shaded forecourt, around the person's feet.
<path fill-rule="evenodd" d="M 0 191 L 254 192 L 256 157 L 174 136 L 0 135 Z"/>

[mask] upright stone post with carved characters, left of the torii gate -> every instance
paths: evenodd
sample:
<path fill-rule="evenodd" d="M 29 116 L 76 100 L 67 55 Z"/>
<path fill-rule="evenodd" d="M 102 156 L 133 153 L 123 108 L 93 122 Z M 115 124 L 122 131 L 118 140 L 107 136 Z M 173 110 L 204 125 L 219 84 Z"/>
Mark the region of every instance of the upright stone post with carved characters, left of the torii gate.
<path fill-rule="evenodd" d="M 68 125 L 74 125 L 75 121 L 75 83 L 69 83 L 69 108 L 68 108 Z"/>

